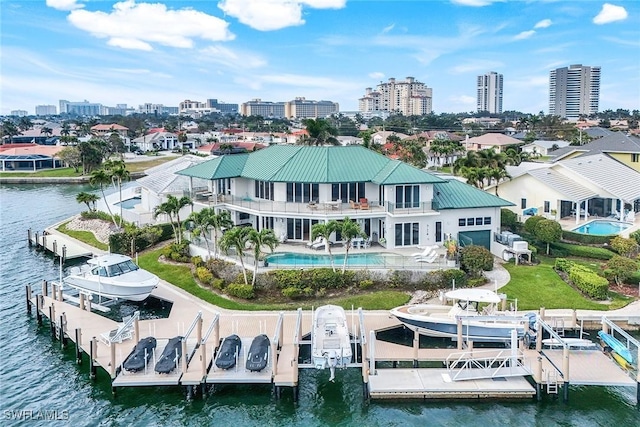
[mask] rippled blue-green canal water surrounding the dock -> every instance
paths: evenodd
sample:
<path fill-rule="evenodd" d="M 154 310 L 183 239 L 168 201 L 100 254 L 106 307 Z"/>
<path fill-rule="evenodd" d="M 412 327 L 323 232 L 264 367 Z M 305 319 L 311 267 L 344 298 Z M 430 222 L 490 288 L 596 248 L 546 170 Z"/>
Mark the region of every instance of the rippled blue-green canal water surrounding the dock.
<path fill-rule="evenodd" d="M 637 426 L 635 389 L 572 387 L 569 403 L 364 402 L 357 370 L 305 370 L 300 399 L 276 401 L 268 386 L 226 386 L 206 399 L 185 400 L 181 388 L 121 389 L 112 396 L 107 375 L 89 378 L 73 348 L 61 350 L 47 327 L 26 315 L 24 286 L 57 275 L 51 257 L 29 249 L 27 229 L 42 230 L 80 212 L 78 185 L 0 188 L 0 425 L 78 426 Z M 597 366 L 594 366 L 597 369 Z M 58 411 L 67 421 L 10 420 L 11 411 Z M 66 411 L 66 412 L 63 412 Z"/>

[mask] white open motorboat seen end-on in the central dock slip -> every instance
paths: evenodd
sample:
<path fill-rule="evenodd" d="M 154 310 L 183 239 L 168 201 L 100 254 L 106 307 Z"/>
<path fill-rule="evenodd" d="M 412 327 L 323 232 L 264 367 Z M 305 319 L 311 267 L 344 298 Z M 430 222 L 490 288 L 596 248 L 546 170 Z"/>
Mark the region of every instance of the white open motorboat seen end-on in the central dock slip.
<path fill-rule="evenodd" d="M 347 315 L 342 307 L 324 305 L 316 309 L 311 346 L 314 366 L 316 369 L 329 368 L 329 380 L 333 381 L 335 368 L 346 368 L 352 357 Z"/>

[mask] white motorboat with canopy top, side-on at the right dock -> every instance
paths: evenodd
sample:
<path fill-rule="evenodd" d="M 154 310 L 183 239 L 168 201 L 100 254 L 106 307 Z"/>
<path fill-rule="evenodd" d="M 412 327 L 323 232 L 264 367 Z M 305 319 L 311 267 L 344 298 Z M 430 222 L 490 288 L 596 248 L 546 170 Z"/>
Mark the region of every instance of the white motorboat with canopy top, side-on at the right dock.
<path fill-rule="evenodd" d="M 502 300 L 498 294 L 487 289 L 457 289 L 445 294 L 453 300 L 453 306 L 415 304 L 391 310 L 402 323 L 412 329 L 418 328 L 423 335 L 458 339 L 458 319 L 462 324 L 463 339 L 477 342 L 503 342 L 511 339 L 515 329 L 518 337 L 524 335 L 528 316 L 516 316 L 502 312 L 497 304 Z M 480 304 L 484 306 L 480 309 Z"/>

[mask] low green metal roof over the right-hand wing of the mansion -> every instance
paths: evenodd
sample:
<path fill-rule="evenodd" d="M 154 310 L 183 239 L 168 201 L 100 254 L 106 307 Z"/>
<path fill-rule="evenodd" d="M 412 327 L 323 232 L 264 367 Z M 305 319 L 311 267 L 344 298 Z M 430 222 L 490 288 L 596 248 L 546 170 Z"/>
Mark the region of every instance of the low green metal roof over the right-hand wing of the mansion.
<path fill-rule="evenodd" d="M 433 186 L 433 204 L 434 208 L 438 210 L 515 206 L 508 200 L 501 199 L 457 179 L 449 179 Z"/>

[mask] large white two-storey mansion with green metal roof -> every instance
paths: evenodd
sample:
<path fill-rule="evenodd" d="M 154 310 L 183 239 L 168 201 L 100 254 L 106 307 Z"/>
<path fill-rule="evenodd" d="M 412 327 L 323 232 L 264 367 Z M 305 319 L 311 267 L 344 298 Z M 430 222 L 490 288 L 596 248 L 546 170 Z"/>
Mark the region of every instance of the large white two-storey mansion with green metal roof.
<path fill-rule="evenodd" d="M 269 228 L 292 242 L 308 242 L 314 224 L 348 216 L 387 249 L 441 245 L 449 234 L 489 248 L 492 232 L 500 230 L 500 208 L 511 205 L 357 145 L 274 145 L 177 174 L 209 181 L 212 196 L 204 201 L 192 184 L 194 210 L 228 210 L 235 224 Z"/>

